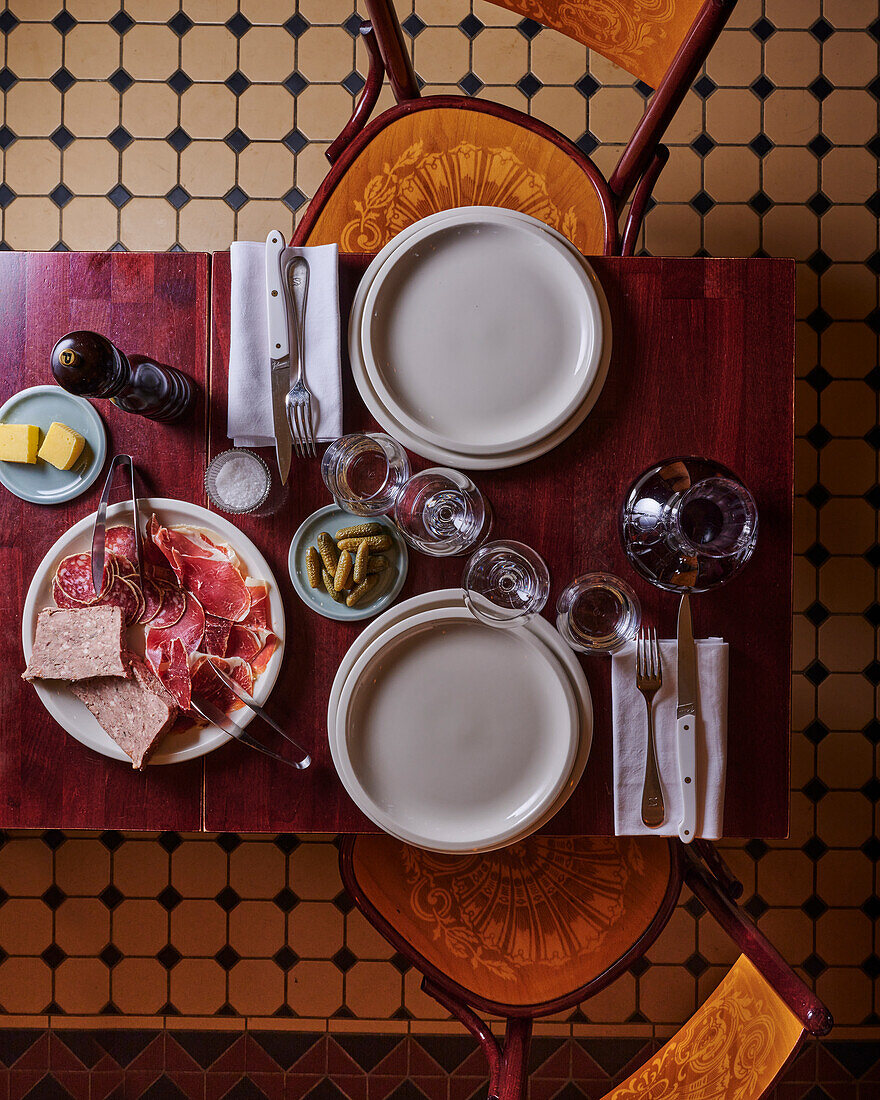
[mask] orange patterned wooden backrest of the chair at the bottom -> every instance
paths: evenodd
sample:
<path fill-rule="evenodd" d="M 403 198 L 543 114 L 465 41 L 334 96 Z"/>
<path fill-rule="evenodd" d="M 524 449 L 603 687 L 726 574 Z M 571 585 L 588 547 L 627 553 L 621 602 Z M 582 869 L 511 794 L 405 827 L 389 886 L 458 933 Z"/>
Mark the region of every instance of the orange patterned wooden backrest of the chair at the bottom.
<path fill-rule="evenodd" d="M 688 1023 L 605 1100 L 759 1100 L 804 1034 L 770 982 L 740 955 Z"/>

